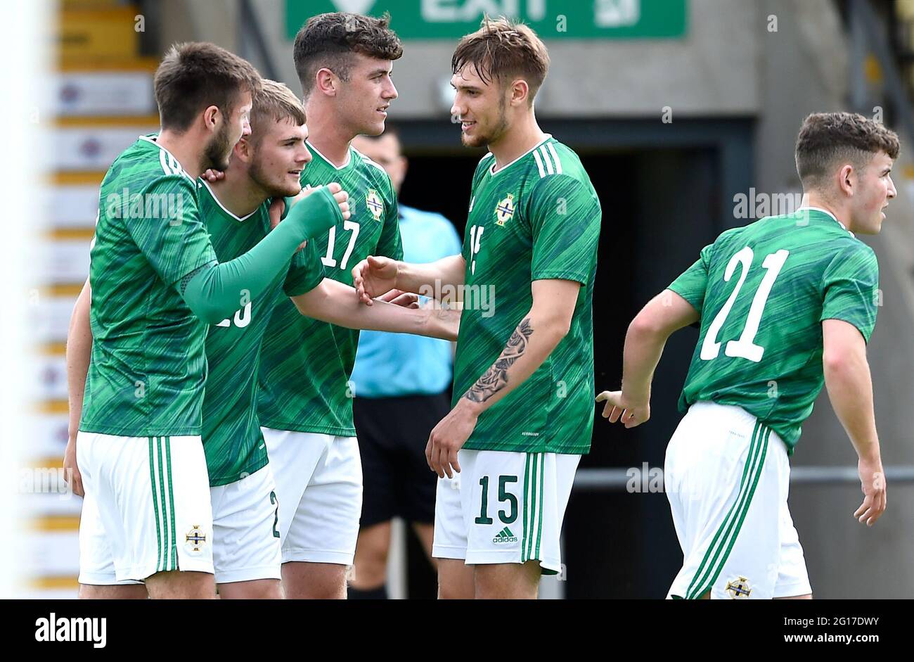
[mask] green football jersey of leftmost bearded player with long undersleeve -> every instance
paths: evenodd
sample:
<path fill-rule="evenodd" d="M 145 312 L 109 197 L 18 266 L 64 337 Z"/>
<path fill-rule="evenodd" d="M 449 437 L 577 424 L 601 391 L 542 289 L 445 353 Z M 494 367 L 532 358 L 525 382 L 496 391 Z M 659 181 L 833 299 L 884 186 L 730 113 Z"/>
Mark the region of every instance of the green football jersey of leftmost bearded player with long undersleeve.
<path fill-rule="evenodd" d="M 90 261 L 92 353 L 80 430 L 200 434 L 207 326 L 177 286 L 216 253 L 197 182 L 154 136 L 140 136 L 102 180 Z"/>

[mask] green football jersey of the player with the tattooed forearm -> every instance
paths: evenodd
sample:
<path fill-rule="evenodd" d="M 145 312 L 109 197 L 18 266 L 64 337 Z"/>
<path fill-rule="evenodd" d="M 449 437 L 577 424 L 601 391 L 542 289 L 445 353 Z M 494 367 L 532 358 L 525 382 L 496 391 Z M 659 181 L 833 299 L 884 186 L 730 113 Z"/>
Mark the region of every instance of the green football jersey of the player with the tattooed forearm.
<path fill-rule="evenodd" d="M 578 155 L 551 136 L 496 172 L 494 165 L 491 154 L 484 156 L 473 176 L 453 403 L 505 349 L 533 305 L 533 281 L 581 287 L 568 335 L 526 381 L 482 413 L 463 447 L 584 454 L 593 429 L 591 301 L 600 200 Z"/>

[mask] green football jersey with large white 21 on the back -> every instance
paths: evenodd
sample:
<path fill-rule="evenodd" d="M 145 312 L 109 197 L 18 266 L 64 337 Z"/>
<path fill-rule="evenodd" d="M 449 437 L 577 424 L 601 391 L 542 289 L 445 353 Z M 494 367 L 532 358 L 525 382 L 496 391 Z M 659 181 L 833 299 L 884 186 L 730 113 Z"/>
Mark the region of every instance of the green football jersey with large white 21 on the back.
<path fill-rule="evenodd" d="M 727 230 L 670 290 L 695 306 L 701 331 L 679 408 L 742 407 L 788 453 L 822 390 L 822 321 L 876 325 L 876 254 L 828 212 L 802 208 Z"/>

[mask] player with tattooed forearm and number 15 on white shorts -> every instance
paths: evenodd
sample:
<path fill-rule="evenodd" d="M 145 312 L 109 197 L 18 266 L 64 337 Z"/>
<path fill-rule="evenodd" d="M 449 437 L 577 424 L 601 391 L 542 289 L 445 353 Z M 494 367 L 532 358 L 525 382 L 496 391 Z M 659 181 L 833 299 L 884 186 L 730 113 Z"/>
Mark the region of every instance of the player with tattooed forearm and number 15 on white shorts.
<path fill-rule="evenodd" d="M 462 38 L 452 114 L 463 144 L 489 148 L 462 254 L 371 257 L 354 270 L 366 304 L 392 287 L 462 293 L 452 411 L 426 449 L 440 477 L 432 555 L 442 598 L 537 596 L 540 575 L 561 571 L 562 519 L 590 449 L 600 201 L 578 155 L 537 124 L 547 68 L 529 27 L 485 20 Z"/>

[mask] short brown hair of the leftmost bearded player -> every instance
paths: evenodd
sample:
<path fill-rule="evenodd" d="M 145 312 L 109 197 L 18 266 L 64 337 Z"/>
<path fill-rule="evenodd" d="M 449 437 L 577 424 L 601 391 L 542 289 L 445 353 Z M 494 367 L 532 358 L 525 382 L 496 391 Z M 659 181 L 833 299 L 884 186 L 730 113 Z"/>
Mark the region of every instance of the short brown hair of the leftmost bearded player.
<path fill-rule="evenodd" d="M 230 114 L 240 93 L 260 91 L 260 74 L 225 48 L 192 41 L 168 49 L 154 88 L 162 128 L 185 131 L 208 106 Z"/>

